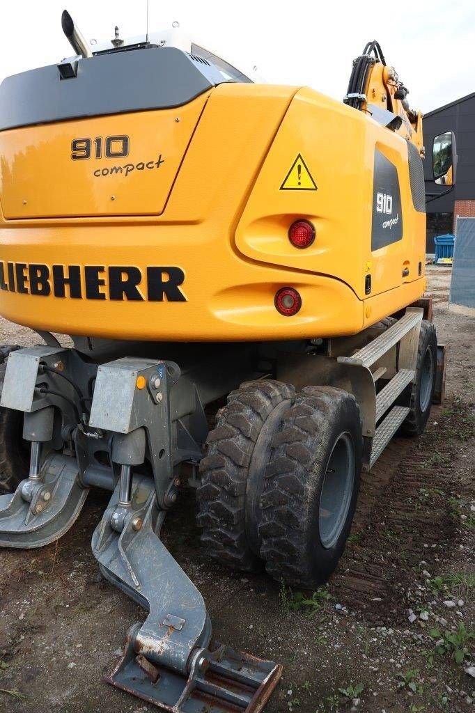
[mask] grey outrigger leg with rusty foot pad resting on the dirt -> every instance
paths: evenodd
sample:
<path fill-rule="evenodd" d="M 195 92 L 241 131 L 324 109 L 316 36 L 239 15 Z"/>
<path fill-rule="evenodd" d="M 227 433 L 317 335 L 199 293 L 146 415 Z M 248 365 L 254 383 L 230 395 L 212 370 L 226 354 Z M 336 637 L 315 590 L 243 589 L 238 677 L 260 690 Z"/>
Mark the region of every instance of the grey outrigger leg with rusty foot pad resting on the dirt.
<path fill-rule="evenodd" d="M 101 571 L 149 610 L 128 632 L 113 684 L 173 713 L 257 713 L 282 667 L 211 645 L 205 602 L 158 538 L 164 511 L 150 478 L 133 483 L 124 513 L 118 488 L 93 535 Z"/>

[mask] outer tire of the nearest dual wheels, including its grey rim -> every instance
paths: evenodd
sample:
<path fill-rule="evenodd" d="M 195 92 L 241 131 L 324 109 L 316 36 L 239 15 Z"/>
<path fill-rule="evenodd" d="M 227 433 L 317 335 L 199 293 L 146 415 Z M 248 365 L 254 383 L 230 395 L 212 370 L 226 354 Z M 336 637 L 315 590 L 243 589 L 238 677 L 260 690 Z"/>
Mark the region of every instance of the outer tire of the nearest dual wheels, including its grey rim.
<path fill-rule="evenodd" d="M 261 498 L 267 573 L 314 587 L 337 567 L 362 468 L 362 426 L 352 394 L 308 386 L 283 415 Z"/>

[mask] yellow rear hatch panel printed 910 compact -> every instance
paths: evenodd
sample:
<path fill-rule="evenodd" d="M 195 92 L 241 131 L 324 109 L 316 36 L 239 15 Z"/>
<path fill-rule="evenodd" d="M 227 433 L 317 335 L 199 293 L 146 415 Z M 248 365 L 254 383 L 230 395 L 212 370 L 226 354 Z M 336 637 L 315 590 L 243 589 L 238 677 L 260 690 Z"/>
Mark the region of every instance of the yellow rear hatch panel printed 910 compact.
<path fill-rule="evenodd" d="M 145 131 L 143 114 L 131 113 L 0 132 L 4 216 L 160 214 L 207 98 L 199 96 L 179 113 L 148 112 Z M 128 139 L 127 153 L 104 158 L 106 138 L 114 136 Z M 71 148 L 85 137 L 91 138 L 91 159 Z M 94 139 L 101 141 L 101 158 L 95 158 Z M 116 139 L 111 150 L 118 153 L 120 145 Z"/>

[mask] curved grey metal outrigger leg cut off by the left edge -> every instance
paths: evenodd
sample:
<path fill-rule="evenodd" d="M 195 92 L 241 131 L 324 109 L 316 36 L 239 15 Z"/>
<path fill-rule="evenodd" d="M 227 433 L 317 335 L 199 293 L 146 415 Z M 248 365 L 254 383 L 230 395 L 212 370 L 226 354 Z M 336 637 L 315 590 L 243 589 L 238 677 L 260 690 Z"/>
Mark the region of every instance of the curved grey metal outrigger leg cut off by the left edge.
<path fill-rule="evenodd" d="M 13 495 L 0 496 L 1 547 L 29 550 L 54 542 L 71 528 L 88 495 L 76 461 L 68 456 L 48 459 L 40 480 L 31 485 L 21 481 Z"/>

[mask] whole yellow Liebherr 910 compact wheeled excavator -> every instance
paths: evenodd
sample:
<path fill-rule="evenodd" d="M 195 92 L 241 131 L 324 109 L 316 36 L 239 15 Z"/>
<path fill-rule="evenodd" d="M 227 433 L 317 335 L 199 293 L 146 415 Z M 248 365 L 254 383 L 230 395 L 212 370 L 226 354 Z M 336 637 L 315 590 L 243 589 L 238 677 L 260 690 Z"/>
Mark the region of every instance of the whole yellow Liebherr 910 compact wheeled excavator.
<path fill-rule="evenodd" d="M 0 313 L 41 337 L 0 349 L 0 545 L 48 545 L 111 491 L 93 553 L 148 617 L 109 682 L 257 712 L 281 667 L 213 642 L 160 528 L 196 488 L 221 563 L 336 568 L 362 468 L 443 391 L 422 115 L 377 42 L 339 103 L 174 32 L 91 49 L 62 25 L 73 56 L 0 86 Z"/>

